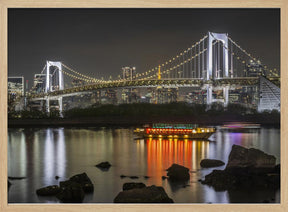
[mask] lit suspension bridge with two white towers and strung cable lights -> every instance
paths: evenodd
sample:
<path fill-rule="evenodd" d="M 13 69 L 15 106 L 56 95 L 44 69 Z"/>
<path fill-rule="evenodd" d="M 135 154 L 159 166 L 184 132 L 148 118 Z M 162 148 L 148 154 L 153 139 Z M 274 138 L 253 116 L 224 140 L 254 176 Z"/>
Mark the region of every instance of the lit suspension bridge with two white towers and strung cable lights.
<path fill-rule="evenodd" d="M 64 97 L 77 96 L 102 89 L 198 87 L 206 91 L 206 104 L 229 103 L 229 91 L 237 86 L 254 86 L 259 93 L 258 110 L 280 111 L 280 72 L 269 69 L 227 33 L 208 32 L 176 56 L 141 73 L 131 71 L 128 77 L 103 80 L 85 75 L 61 62 L 47 61 L 41 72 L 44 83 L 30 90 L 30 101 L 43 101 L 50 111 L 50 100 L 57 100 L 62 113 Z M 68 79 L 83 82 L 67 86 Z M 64 86 L 65 85 L 65 86 Z M 39 86 L 38 86 L 39 87 Z M 214 90 L 222 90 L 223 98 L 213 97 Z"/>

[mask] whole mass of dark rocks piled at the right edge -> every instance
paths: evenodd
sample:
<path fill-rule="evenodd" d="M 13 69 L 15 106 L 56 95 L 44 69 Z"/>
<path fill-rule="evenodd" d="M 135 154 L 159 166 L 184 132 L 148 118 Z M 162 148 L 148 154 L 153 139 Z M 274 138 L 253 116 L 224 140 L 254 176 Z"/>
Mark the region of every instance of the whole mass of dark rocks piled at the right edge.
<path fill-rule="evenodd" d="M 275 157 L 257 149 L 233 145 L 224 170 L 213 170 L 202 184 L 215 190 L 280 188 L 280 165 Z"/>

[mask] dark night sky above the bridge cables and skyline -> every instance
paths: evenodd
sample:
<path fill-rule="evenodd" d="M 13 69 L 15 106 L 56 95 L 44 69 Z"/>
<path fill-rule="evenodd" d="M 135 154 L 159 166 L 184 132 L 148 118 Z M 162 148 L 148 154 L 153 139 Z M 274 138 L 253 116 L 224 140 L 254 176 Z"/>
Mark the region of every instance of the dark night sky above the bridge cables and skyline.
<path fill-rule="evenodd" d="M 279 9 L 9 9 L 8 74 L 32 85 L 46 60 L 93 77 L 154 68 L 208 31 L 280 67 Z"/>

